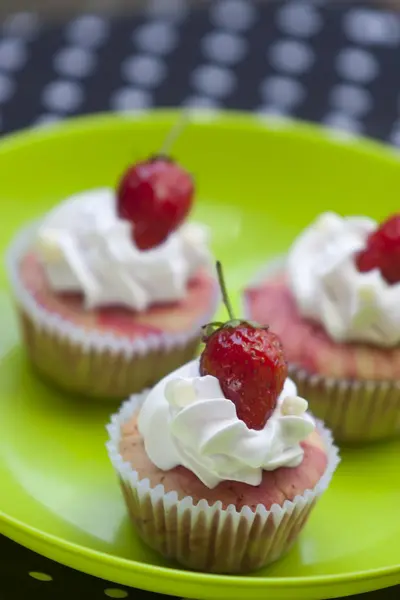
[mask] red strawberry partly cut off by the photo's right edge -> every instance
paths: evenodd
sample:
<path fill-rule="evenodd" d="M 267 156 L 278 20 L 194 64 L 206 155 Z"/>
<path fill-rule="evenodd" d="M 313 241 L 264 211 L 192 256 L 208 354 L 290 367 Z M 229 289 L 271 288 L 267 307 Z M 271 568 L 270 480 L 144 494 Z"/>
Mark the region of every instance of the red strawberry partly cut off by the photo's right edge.
<path fill-rule="evenodd" d="M 379 269 L 388 283 L 400 282 L 400 214 L 389 217 L 369 236 L 356 255 L 356 265 L 361 273 Z"/>

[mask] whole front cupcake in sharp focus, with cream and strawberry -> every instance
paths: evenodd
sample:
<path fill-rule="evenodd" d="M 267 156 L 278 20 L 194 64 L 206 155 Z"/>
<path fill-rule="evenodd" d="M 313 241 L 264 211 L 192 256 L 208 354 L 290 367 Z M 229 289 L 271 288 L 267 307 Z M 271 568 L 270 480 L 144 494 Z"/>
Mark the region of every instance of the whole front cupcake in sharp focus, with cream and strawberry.
<path fill-rule="evenodd" d="M 290 550 L 338 453 L 275 334 L 235 320 L 205 339 L 200 359 L 123 404 L 107 448 L 144 542 L 190 569 L 247 573 Z"/>

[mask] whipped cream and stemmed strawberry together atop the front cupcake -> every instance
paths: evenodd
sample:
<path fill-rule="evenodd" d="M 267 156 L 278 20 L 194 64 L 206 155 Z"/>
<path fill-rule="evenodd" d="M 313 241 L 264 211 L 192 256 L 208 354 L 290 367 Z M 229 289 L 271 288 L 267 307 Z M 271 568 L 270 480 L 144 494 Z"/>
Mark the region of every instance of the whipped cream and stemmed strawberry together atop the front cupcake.
<path fill-rule="evenodd" d="M 230 320 L 206 326 L 200 359 L 149 393 L 139 431 L 159 469 L 182 465 L 209 488 L 222 481 L 256 486 L 263 470 L 302 462 L 300 442 L 315 423 L 287 377 L 279 338 L 233 317 L 219 263 L 217 270 Z"/>

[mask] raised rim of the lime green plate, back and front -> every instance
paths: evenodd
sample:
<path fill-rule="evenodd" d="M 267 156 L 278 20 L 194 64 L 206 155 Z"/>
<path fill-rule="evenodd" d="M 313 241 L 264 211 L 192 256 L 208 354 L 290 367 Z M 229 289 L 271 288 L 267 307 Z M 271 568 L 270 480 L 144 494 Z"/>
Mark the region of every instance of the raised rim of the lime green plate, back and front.
<path fill-rule="evenodd" d="M 0 156 L 18 148 L 27 147 L 35 143 L 44 143 L 60 136 L 74 136 L 77 134 L 90 133 L 91 131 L 109 130 L 119 128 L 122 124 L 131 123 L 138 126 L 159 128 L 160 126 L 171 125 L 174 119 L 180 114 L 179 109 L 149 109 L 144 111 L 129 113 L 97 113 L 90 116 L 77 116 L 68 118 L 64 121 L 53 123 L 41 127 L 32 127 L 20 130 L 16 133 L 4 135 L 0 144 Z M 257 113 L 246 113 L 243 111 L 230 110 L 207 110 L 194 109 L 191 112 L 190 121 L 195 125 L 204 127 L 218 128 L 236 128 L 240 130 L 265 129 L 270 133 L 280 136 L 297 137 L 305 141 L 313 141 L 320 144 L 338 146 L 344 152 L 355 152 L 361 155 L 368 155 L 370 158 L 385 163 L 393 163 L 400 166 L 399 153 L 395 148 L 391 148 L 379 141 L 368 139 L 361 136 L 342 137 L 332 134 L 327 128 L 318 124 L 299 121 L 290 118 L 265 116 Z M 389 567 L 379 567 L 364 571 L 350 571 L 347 573 L 327 574 L 327 575 L 308 575 L 304 577 L 249 577 L 242 575 L 218 575 L 210 573 L 201 573 L 196 571 L 186 571 L 179 568 L 164 567 L 149 563 L 143 563 L 134 559 L 118 557 L 114 554 L 108 554 L 103 551 L 91 549 L 87 546 L 70 542 L 66 538 L 47 533 L 39 528 L 33 527 L 28 523 L 19 520 L 0 509 L 0 524 L 11 529 L 11 535 L 7 537 L 14 539 L 23 537 L 32 541 L 29 546 L 32 549 L 38 548 L 40 542 L 45 543 L 49 548 L 59 549 L 62 552 L 79 558 L 90 560 L 93 563 L 100 563 L 104 567 L 112 566 L 116 569 L 130 571 L 144 577 L 158 576 L 163 580 L 175 580 L 177 583 L 203 584 L 204 587 L 230 587 L 234 585 L 242 589 L 304 589 L 319 587 L 321 584 L 332 584 L 334 586 L 352 583 L 359 580 L 379 580 L 399 575 L 400 583 L 400 563 Z M 18 540 L 16 540 L 18 541 Z M 41 550 L 37 550 L 41 553 Z M 57 560 L 57 559 L 55 559 Z M 74 561 L 75 564 L 75 561 Z M 80 568 L 75 566 L 74 568 Z M 84 570 L 85 569 L 81 569 Z M 87 572 L 87 571 L 85 571 Z"/>

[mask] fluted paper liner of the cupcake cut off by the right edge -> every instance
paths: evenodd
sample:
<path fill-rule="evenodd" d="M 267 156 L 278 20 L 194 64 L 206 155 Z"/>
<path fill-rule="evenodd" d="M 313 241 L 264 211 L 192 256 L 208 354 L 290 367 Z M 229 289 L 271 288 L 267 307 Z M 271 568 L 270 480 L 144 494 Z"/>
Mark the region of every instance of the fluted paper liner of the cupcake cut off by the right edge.
<path fill-rule="evenodd" d="M 285 257 L 278 257 L 264 266 L 248 287 L 268 281 L 284 269 Z M 251 318 L 244 304 L 245 316 Z M 291 363 L 288 367 L 299 395 L 330 428 L 336 442 L 363 444 L 400 434 L 400 381 L 341 379 L 310 373 Z"/>

